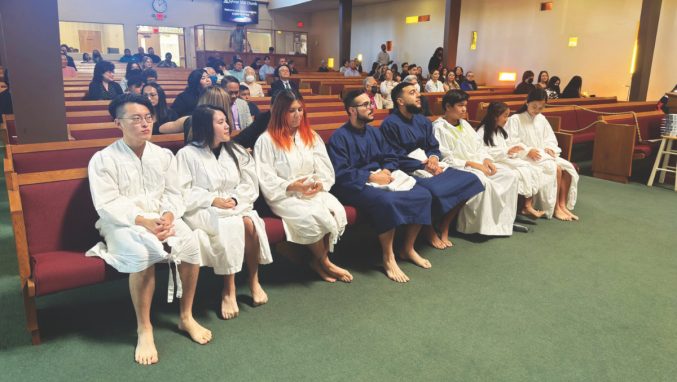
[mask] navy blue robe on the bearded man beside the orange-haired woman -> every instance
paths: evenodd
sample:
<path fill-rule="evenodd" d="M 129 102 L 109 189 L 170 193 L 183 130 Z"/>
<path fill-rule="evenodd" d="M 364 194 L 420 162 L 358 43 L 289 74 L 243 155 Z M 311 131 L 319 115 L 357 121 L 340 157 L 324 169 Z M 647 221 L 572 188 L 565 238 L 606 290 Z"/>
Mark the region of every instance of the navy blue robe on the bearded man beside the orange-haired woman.
<path fill-rule="evenodd" d="M 360 130 L 348 122 L 331 136 L 327 151 L 336 173 L 332 193 L 365 212 L 378 234 L 402 224 L 430 224 L 432 197 L 425 188 L 417 184 L 409 191 L 387 191 L 367 186 L 371 171 L 399 168 L 397 156 L 377 129 Z"/>

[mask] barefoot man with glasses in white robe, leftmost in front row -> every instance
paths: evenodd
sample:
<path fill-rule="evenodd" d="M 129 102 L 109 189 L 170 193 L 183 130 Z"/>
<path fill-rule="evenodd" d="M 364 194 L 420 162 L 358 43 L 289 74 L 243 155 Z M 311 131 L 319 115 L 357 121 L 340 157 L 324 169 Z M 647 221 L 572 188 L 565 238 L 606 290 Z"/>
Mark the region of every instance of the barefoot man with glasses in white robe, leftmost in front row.
<path fill-rule="evenodd" d="M 123 94 L 109 105 L 122 139 L 94 154 L 88 174 L 92 201 L 104 242 L 87 251 L 122 273 L 129 273 L 129 290 L 137 321 L 134 359 L 143 365 L 158 362 L 150 307 L 155 289 L 155 264 L 176 264 L 178 279 L 170 275 L 171 302 L 181 299 L 179 329 L 197 343 L 212 333 L 195 321 L 193 298 L 200 253 L 193 231 L 181 219 L 185 207 L 171 151 L 150 142 L 153 115 L 148 98 Z M 171 269 L 170 269 L 171 271 Z"/>

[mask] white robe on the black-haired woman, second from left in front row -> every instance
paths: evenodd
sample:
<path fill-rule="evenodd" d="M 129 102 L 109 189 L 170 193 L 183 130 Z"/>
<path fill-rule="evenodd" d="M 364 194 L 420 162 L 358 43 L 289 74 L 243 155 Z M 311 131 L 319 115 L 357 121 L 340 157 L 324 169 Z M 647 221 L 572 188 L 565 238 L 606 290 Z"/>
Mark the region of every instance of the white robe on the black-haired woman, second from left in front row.
<path fill-rule="evenodd" d="M 242 270 L 244 261 L 244 217 L 251 219 L 259 238 L 259 264 L 273 262 L 263 219 L 254 210 L 259 196 L 254 158 L 243 147 L 234 147 L 238 167 L 221 148 L 218 159 L 209 147 L 187 145 L 176 154 L 179 182 L 186 204 L 184 220 L 196 230 L 201 265 L 218 275 Z M 212 206 L 215 198 L 233 198 L 231 209 Z"/>

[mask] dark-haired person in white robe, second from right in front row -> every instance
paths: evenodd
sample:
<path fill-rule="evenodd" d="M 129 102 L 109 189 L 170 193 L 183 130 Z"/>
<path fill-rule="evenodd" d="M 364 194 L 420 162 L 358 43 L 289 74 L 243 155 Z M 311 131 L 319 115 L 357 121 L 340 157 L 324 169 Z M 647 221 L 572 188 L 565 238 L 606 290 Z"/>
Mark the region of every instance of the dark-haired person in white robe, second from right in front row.
<path fill-rule="evenodd" d="M 523 144 L 515 144 L 508 138 L 508 132 L 503 126 L 509 116 L 508 105 L 503 102 L 491 102 L 477 134 L 494 162 L 505 165 L 517 173 L 517 193 L 524 197 L 524 207 L 520 214 L 538 219 L 543 217 L 545 212 L 534 208 L 534 195 L 549 178 L 544 176 L 540 167 L 533 166 L 525 160 L 527 152 Z"/>

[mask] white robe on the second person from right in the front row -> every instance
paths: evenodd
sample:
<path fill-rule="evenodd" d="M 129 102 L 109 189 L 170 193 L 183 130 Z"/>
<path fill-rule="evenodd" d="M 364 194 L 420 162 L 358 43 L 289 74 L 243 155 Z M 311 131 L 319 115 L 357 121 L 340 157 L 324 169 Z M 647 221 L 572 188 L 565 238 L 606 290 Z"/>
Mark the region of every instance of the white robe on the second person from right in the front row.
<path fill-rule="evenodd" d="M 483 127 L 477 130 L 477 135 L 484 142 Z M 493 143 L 493 146 L 488 146 L 485 143 L 484 147 L 495 163 L 510 167 L 517 172 L 519 180 L 517 186 L 518 194 L 531 198 L 540 192 L 543 187 L 547 187 L 547 185 L 553 186 L 556 183 L 555 174 L 546 176 L 542 167 L 536 166 L 524 159 L 528 151 L 523 144 L 512 142 L 510 137 L 503 137 L 502 134 L 494 134 Z M 508 155 L 508 151 L 514 146 L 520 146 L 524 150 L 515 155 Z"/>

